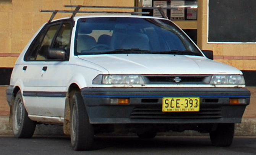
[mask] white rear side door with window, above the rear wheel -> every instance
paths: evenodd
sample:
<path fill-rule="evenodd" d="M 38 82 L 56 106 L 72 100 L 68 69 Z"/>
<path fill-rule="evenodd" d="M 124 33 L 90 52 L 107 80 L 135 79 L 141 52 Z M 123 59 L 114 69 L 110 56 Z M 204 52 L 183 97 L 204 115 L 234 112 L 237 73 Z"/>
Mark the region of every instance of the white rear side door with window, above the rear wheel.
<path fill-rule="evenodd" d="M 41 96 L 39 87 L 42 84 L 45 63 L 48 61 L 48 49 L 52 46 L 61 24 L 62 22 L 46 24 L 25 54 L 23 70 L 26 72 L 27 77 L 24 78 L 26 80 L 23 82 L 23 96 L 29 115 L 41 116 L 47 113 L 48 105 L 43 105 L 39 102 Z"/>

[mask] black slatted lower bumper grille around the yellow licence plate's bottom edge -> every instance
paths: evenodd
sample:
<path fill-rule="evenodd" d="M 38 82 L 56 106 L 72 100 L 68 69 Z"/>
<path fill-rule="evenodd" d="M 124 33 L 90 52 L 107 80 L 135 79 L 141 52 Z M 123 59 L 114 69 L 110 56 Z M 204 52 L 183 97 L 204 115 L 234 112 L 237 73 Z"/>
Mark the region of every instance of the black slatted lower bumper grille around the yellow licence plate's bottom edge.
<path fill-rule="evenodd" d="M 135 107 L 130 115 L 134 119 L 199 119 L 222 118 L 218 106 L 201 106 L 199 112 L 162 112 L 161 106 Z"/>

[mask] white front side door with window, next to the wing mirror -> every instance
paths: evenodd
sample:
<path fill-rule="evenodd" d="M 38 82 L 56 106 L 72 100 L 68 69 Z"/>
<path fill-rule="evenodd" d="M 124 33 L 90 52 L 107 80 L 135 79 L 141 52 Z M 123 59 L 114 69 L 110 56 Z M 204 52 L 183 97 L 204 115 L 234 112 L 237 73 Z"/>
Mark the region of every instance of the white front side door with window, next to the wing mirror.
<path fill-rule="evenodd" d="M 38 84 L 38 108 L 37 113 L 42 116 L 64 117 L 66 89 L 67 89 L 67 65 L 70 52 L 70 37 L 72 29 L 71 21 L 60 23 L 60 28 L 52 38 L 48 49 L 60 49 L 66 52 L 66 58 L 56 59 L 45 57 L 41 66 L 41 77 Z M 47 51 L 45 51 L 47 53 Z"/>

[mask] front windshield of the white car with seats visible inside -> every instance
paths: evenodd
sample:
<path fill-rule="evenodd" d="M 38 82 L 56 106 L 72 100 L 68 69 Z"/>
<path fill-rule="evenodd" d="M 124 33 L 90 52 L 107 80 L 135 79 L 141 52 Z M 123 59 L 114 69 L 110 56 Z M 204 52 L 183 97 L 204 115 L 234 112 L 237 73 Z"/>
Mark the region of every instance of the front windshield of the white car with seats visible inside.
<path fill-rule="evenodd" d="M 202 56 L 184 32 L 165 19 L 81 18 L 75 38 L 75 55 L 160 53 Z"/>

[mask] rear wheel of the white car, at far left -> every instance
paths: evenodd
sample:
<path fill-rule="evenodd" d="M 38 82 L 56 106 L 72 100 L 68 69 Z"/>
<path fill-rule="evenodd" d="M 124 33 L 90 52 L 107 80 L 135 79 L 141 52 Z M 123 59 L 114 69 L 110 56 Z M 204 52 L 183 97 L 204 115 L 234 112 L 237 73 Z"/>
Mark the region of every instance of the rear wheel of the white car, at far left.
<path fill-rule="evenodd" d="M 13 104 L 12 124 L 13 135 L 16 138 L 31 138 L 36 128 L 36 122 L 28 117 L 20 90 Z"/>

